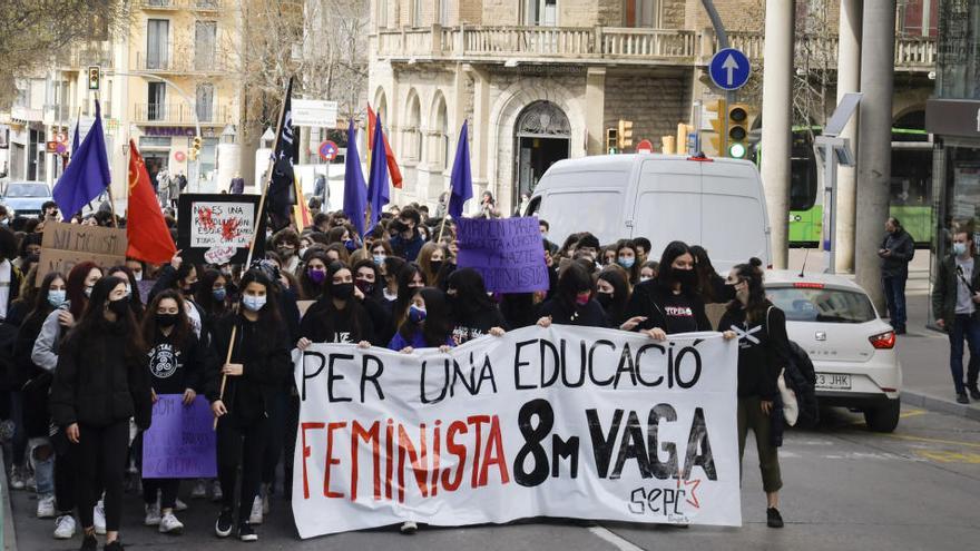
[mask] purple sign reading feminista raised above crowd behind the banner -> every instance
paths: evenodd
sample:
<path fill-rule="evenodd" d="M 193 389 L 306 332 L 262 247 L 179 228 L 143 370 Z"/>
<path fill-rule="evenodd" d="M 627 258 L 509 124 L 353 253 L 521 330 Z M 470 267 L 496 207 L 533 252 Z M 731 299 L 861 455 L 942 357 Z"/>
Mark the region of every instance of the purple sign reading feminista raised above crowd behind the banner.
<path fill-rule="evenodd" d="M 457 220 L 461 268 L 474 268 L 491 293 L 530 293 L 548 288 L 548 267 L 537 218 L 460 218 Z"/>

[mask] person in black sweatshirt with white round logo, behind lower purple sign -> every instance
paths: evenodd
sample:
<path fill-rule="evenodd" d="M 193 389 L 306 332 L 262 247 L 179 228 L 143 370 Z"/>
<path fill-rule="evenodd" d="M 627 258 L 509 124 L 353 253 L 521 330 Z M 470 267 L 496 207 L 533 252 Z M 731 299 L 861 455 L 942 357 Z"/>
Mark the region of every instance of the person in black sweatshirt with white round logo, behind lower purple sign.
<path fill-rule="evenodd" d="M 213 356 L 194 334 L 179 293 L 167 289 L 154 298 L 143 322 L 143 338 L 149 346 L 148 374 L 154 402 L 160 394 L 182 394 L 184 405 L 193 403 L 203 391 L 204 373 Z M 136 449 L 141 455 L 141 434 Z M 174 515 L 179 486 L 180 479 L 143 479 L 145 525 L 158 527 L 160 533 L 184 531 L 184 524 Z"/>

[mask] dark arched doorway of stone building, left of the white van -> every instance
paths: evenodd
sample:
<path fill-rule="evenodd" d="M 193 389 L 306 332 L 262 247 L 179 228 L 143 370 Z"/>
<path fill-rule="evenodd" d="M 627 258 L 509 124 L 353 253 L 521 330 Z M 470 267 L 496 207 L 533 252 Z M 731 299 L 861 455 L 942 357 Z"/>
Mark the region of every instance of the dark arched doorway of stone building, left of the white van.
<path fill-rule="evenodd" d="M 528 105 L 514 128 L 513 203 L 521 194 L 530 195 L 548 167 L 567 159 L 571 147 L 571 125 L 557 105 L 541 100 Z"/>

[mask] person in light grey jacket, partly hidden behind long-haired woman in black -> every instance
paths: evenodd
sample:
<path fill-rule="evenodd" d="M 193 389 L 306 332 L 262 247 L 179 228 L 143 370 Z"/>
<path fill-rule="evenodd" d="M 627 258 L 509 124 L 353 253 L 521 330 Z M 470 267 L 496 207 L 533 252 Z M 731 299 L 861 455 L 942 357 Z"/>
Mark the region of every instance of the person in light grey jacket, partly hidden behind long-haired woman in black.
<path fill-rule="evenodd" d="M 95 288 L 96 282 L 102 277 L 102 270 L 94 262 L 76 264 L 68 273 L 68 282 L 65 286 L 66 301 L 55 308 L 45 323 L 35 341 L 31 350 L 31 361 L 47 373 L 53 375 L 58 366 L 62 337 L 68 334 L 77 319 L 88 306 L 89 296 Z M 124 285 L 125 288 L 125 285 Z M 55 461 L 55 495 L 58 505 L 55 519 L 55 539 L 68 540 L 75 535 L 76 523 L 71 511 L 76 505 L 76 453 L 70 445 L 63 430 L 55 426 L 57 431 L 51 435 L 57 459 Z M 101 513 L 101 511 L 99 511 Z M 104 518 L 96 514 L 96 528 L 101 531 L 105 524 Z"/>

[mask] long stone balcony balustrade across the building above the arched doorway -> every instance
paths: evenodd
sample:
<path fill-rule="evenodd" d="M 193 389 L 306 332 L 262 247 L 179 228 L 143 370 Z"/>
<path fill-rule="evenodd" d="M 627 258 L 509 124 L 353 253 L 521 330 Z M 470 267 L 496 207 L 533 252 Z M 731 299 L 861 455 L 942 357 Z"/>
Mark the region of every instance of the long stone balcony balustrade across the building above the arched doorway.
<path fill-rule="evenodd" d="M 441 27 L 380 30 L 372 40 L 376 55 L 392 60 L 442 59 L 457 61 L 536 62 L 657 62 L 704 65 L 717 51 L 710 32 L 614 27 Z M 762 33 L 733 32 L 729 42 L 749 59 L 761 60 Z M 836 66 L 835 36 L 797 38 L 797 58 L 806 52 L 827 52 Z M 935 41 L 898 38 L 895 69 L 927 71 L 935 65 Z"/>

